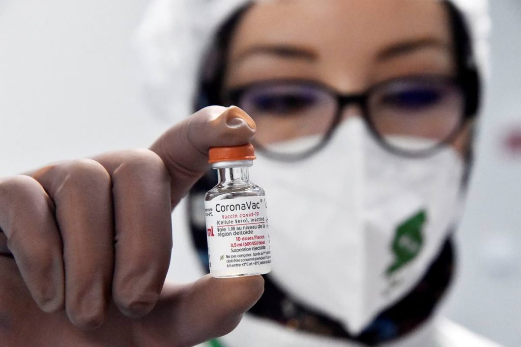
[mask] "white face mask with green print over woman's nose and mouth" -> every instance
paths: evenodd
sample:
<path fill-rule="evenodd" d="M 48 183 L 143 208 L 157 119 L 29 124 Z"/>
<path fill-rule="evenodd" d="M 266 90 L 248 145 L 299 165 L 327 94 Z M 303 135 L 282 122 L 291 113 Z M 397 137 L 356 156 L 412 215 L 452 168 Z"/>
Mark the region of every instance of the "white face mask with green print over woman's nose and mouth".
<path fill-rule="evenodd" d="M 271 278 L 360 333 L 438 255 L 460 214 L 463 171 L 450 147 L 426 158 L 389 153 L 359 117 L 309 159 L 258 160 L 251 176 L 267 192 Z"/>

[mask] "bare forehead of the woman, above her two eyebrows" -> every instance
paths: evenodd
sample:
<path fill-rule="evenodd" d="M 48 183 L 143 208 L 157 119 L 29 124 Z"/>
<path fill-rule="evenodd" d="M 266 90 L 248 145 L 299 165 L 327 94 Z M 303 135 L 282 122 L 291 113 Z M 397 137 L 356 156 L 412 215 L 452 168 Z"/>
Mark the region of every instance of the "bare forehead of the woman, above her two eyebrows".
<path fill-rule="evenodd" d="M 451 44 L 441 1 L 268 0 L 245 14 L 231 56 L 258 44 L 302 45 L 319 54 L 361 56 L 419 38 Z"/>

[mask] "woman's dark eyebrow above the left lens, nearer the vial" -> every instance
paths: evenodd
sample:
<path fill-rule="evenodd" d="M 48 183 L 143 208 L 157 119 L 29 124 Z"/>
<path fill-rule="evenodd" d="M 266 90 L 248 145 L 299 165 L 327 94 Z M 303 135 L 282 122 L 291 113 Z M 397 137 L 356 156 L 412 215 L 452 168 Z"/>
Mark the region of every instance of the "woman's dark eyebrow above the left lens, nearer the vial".
<path fill-rule="evenodd" d="M 265 54 L 275 55 L 280 58 L 303 59 L 312 62 L 318 60 L 318 54 L 313 49 L 298 47 L 290 44 L 266 44 L 252 46 L 246 49 L 244 52 L 240 53 L 234 60 L 237 63 L 238 61 L 244 60 L 254 55 Z"/>

